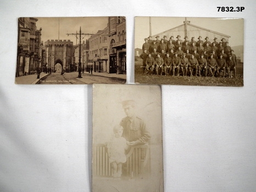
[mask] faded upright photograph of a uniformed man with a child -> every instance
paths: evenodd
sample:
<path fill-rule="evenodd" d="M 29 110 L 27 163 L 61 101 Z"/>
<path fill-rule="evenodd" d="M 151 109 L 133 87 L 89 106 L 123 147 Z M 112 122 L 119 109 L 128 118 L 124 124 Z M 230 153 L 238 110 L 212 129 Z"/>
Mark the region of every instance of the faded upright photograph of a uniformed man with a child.
<path fill-rule="evenodd" d="M 158 85 L 93 84 L 92 191 L 162 192 Z"/>

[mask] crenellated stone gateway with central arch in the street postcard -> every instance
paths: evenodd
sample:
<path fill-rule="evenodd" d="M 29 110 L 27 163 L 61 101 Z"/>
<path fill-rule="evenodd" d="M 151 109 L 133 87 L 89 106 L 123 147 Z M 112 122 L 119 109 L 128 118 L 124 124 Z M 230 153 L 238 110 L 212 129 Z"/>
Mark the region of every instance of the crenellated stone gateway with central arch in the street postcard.
<path fill-rule="evenodd" d="M 44 42 L 46 49 L 45 67 L 51 68 L 52 72 L 69 72 L 72 66 L 74 55 L 73 42 L 70 40 L 48 40 Z"/>

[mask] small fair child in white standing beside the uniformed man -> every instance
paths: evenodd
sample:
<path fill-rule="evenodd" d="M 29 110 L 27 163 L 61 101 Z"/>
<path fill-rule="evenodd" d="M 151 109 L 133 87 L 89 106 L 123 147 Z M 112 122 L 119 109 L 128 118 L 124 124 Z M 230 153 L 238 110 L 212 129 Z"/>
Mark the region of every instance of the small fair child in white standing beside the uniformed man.
<path fill-rule="evenodd" d="M 116 125 L 113 128 L 114 137 L 107 145 L 114 178 L 121 177 L 122 165 L 126 162 L 125 150 L 128 148 L 127 144 L 129 144 L 129 142 L 126 142 L 126 139 L 121 137 L 123 130 L 124 128 L 122 126 Z"/>

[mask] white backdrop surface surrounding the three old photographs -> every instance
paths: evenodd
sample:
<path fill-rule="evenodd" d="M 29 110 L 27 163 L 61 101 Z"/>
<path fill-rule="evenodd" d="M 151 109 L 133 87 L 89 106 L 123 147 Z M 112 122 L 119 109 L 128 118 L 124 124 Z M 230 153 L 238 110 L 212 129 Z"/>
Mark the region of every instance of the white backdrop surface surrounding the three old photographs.
<path fill-rule="evenodd" d="M 162 86 L 164 182 L 165 191 L 255 191 L 255 8 L 252 0 L 1 1 L 0 191 L 91 191 L 92 86 L 14 84 L 17 19 L 110 15 L 126 16 L 127 83 L 135 16 L 244 18 L 244 87 Z"/>

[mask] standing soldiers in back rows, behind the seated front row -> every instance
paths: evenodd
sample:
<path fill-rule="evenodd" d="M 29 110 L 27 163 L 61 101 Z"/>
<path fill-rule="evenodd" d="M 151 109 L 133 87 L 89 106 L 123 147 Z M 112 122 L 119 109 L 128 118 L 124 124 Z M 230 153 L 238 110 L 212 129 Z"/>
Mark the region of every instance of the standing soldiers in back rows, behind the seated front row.
<path fill-rule="evenodd" d="M 188 50 L 191 54 L 194 53 L 194 50 L 197 50 L 198 54 L 201 54 L 204 49 L 206 49 L 207 53 L 210 54 L 214 50 L 216 54 L 220 54 L 222 50 L 224 53 L 229 55 L 231 52 L 231 47 L 229 46 L 229 42 L 226 41 L 225 38 L 222 38 L 220 42 L 217 42 L 217 37 L 214 38 L 214 41 L 211 43 L 208 37 L 205 37 L 205 41 L 202 40 L 202 36 L 198 37 L 198 41 L 194 41 L 194 37 L 191 38 L 191 41 L 188 41 L 188 37 L 184 37 L 185 41 L 183 42 L 181 36 L 178 35 L 175 41 L 173 36 L 168 40 L 166 36 L 159 40 L 159 36 L 156 36 L 157 40 L 152 40 L 152 36 L 148 38 L 144 38 L 145 43 L 142 45 L 142 50 L 147 49 L 148 53 L 152 53 L 154 48 L 157 52 L 161 52 L 163 49 L 166 53 L 171 49 L 174 51 L 182 50 L 182 52 L 186 52 Z"/>

